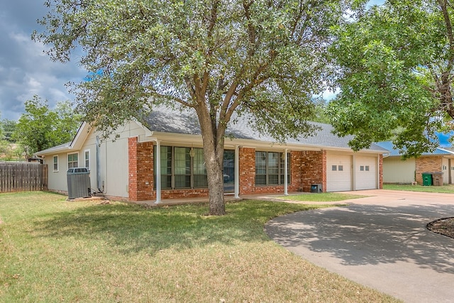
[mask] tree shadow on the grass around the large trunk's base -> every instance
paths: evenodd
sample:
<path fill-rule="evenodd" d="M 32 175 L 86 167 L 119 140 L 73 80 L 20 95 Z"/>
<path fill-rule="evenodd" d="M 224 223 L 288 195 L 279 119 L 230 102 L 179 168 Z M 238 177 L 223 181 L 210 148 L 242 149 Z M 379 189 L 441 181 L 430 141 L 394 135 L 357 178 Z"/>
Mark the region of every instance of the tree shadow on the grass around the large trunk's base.
<path fill-rule="evenodd" d="M 33 233 L 38 237 L 89 239 L 107 243 L 120 253 L 147 250 L 152 255 L 166 248 L 182 250 L 214 243 L 262 242 L 269 241 L 263 224 L 276 212 L 271 204 L 228 203 L 226 216 L 205 216 L 206 205 L 156 209 L 121 203 L 94 205 L 36 220 Z"/>

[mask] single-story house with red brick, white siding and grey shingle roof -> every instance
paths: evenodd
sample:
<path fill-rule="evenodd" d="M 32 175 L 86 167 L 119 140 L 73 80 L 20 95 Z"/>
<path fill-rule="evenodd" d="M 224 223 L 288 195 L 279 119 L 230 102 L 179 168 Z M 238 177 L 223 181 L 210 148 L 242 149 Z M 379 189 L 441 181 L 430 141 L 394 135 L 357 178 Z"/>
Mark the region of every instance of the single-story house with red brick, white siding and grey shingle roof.
<path fill-rule="evenodd" d="M 146 124 L 131 121 L 101 142 L 99 133 L 83 123 L 71 143 L 40 151 L 49 165 L 49 189 L 67 192 L 67 169 L 88 167 L 92 188 L 111 199 L 160 202 L 207 196 L 195 114 L 157 108 Z M 281 145 L 250 129 L 245 119 L 231 123 L 224 153 L 226 194 L 382 188 L 382 154 L 387 150 L 372 145 L 353 153 L 348 147 L 351 137 L 339 138 L 328 124 L 316 125 L 321 131 L 315 136 Z"/>

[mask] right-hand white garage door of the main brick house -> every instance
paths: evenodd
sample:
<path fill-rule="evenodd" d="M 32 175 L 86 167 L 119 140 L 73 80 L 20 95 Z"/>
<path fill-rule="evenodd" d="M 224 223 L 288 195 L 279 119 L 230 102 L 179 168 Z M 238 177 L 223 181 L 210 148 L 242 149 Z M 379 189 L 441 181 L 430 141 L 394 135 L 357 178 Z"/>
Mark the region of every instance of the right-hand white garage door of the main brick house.
<path fill-rule="evenodd" d="M 355 189 L 377 188 L 377 158 L 355 158 Z"/>

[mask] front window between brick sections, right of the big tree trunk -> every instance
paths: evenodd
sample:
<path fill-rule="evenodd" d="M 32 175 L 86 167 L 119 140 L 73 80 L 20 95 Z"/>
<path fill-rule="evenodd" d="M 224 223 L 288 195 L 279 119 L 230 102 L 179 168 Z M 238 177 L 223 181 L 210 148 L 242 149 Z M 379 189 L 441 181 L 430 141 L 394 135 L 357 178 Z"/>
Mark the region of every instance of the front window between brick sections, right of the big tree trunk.
<path fill-rule="evenodd" d="M 255 152 L 255 185 L 284 184 L 283 153 Z M 290 154 L 287 154 L 287 179 L 290 182 Z"/>

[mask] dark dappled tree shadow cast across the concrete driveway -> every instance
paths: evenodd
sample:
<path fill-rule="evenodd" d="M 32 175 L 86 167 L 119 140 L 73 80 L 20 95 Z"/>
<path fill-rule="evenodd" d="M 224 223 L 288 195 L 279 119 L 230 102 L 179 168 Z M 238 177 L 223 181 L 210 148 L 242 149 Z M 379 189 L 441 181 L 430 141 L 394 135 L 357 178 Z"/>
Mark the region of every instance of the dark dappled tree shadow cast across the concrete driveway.
<path fill-rule="evenodd" d="M 270 221 L 265 231 L 284 247 L 330 253 L 343 265 L 403 261 L 454 273 L 454 239 L 426 229 L 447 214 L 454 214 L 454 205 L 356 204 L 288 214 Z"/>

